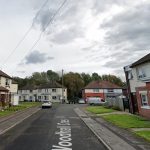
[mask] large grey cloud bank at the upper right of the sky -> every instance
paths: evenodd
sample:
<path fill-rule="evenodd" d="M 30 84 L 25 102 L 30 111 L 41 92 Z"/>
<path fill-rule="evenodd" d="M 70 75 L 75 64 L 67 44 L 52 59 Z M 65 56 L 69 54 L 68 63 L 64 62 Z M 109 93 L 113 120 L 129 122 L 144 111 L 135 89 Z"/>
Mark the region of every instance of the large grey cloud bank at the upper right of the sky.
<path fill-rule="evenodd" d="M 128 44 L 134 51 L 150 48 L 149 14 L 150 3 L 144 3 L 114 16 L 100 26 L 108 30 L 105 41 L 112 46 L 119 43 L 122 49 Z"/>

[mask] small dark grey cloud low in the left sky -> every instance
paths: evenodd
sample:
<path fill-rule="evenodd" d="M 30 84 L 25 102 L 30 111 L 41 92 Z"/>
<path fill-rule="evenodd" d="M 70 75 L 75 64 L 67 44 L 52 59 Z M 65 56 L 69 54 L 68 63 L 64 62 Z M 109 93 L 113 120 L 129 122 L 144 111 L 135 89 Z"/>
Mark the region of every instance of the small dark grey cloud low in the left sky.
<path fill-rule="evenodd" d="M 25 64 L 38 64 L 38 63 L 45 63 L 48 60 L 52 60 L 54 57 L 47 56 L 46 53 L 41 53 L 37 50 L 31 52 L 25 58 Z"/>

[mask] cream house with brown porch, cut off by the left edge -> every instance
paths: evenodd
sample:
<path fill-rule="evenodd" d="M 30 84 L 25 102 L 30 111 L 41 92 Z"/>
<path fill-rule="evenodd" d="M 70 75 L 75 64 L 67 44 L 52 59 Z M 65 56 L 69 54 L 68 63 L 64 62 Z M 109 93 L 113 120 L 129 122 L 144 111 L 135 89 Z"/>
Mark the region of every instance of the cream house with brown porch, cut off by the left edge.
<path fill-rule="evenodd" d="M 12 103 L 17 100 L 18 84 L 12 81 L 12 78 L 0 70 L 0 102 L 2 105 Z"/>

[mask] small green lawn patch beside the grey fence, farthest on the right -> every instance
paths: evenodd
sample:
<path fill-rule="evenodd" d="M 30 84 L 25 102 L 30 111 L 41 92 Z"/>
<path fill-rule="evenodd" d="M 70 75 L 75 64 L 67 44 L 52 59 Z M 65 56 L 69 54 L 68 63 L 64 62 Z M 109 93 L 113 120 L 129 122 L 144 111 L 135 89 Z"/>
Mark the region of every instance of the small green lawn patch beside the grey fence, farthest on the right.
<path fill-rule="evenodd" d="M 105 108 L 103 106 L 88 106 L 86 108 L 87 111 L 92 112 L 94 114 L 103 114 L 103 113 L 111 113 L 116 110 Z"/>

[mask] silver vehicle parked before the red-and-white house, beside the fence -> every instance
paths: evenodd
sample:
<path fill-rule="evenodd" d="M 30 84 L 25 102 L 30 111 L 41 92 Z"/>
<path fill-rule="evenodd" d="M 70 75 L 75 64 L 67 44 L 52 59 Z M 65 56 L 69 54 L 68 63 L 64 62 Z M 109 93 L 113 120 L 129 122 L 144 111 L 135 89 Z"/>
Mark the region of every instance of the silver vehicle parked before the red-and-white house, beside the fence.
<path fill-rule="evenodd" d="M 105 103 L 104 99 L 98 97 L 91 97 L 88 99 L 89 105 L 103 105 Z"/>

